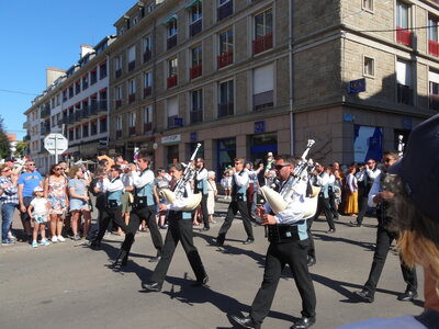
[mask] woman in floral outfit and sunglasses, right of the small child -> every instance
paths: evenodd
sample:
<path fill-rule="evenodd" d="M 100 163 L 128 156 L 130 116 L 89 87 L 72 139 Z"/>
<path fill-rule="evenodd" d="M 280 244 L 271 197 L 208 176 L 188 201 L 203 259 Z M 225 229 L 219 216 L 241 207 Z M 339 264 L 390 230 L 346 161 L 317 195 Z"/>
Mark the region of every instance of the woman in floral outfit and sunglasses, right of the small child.
<path fill-rule="evenodd" d="M 50 167 L 50 174 L 44 182 L 44 198 L 50 205 L 49 220 L 52 242 L 64 242 L 63 237 L 63 216 L 68 208 L 68 191 L 67 179 L 63 174 L 63 169 L 59 164 Z"/>

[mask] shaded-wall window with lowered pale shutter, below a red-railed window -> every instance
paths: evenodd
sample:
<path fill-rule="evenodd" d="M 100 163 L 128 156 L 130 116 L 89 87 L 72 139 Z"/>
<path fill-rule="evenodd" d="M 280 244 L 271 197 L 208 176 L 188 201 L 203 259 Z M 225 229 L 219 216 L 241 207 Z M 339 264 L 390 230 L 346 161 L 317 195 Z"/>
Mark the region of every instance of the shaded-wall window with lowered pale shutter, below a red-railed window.
<path fill-rule="evenodd" d="M 266 65 L 254 70 L 254 110 L 273 106 L 274 69 Z"/>

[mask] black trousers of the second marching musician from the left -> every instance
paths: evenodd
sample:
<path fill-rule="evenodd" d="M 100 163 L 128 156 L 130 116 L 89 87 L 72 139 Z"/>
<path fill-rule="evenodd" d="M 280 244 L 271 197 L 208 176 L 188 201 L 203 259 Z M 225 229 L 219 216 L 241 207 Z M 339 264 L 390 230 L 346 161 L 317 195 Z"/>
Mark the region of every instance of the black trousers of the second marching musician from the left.
<path fill-rule="evenodd" d="M 161 254 L 164 248 L 164 240 L 156 222 L 156 206 L 147 206 L 143 208 L 135 208 L 130 213 L 130 224 L 125 231 L 125 240 L 121 247 L 121 259 L 127 259 L 131 247 L 134 243 L 134 236 L 140 225 L 140 220 L 145 219 L 151 235 L 154 247 L 157 249 L 157 256 Z"/>

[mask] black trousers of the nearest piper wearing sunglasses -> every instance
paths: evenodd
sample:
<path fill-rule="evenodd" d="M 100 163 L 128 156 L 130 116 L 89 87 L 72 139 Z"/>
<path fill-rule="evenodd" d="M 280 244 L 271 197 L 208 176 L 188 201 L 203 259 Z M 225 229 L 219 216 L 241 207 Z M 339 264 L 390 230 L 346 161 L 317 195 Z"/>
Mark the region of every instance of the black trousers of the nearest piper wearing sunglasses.
<path fill-rule="evenodd" d="M 251 304 L 250 317 L 256 322 L 261 324 L 270 311 L 279 279 L 285 264 L 289 264 L 302 297 L 302 315 L 304 317 L 315 316 L 316 295 L 306 264 L 309 245 L 309 239 L 286 243 L 270 243 L 266 257 L 263 281 Z"/>

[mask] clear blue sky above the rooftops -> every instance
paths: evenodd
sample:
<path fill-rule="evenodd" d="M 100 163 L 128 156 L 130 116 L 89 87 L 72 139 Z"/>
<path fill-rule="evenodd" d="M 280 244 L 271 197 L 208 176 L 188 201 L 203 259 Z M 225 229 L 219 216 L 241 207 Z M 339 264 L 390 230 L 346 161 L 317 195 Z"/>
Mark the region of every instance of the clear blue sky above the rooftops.
<path fill-rule="evenodd" d="M 47 67 L 68 69 L 81 44 L 115 34 L 136 0 L 0 0 L 0 115 L 8 133 L 26 134 L 24 111 L 46 88 Z"/>

